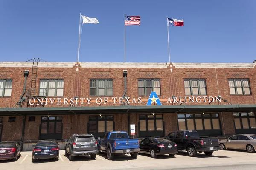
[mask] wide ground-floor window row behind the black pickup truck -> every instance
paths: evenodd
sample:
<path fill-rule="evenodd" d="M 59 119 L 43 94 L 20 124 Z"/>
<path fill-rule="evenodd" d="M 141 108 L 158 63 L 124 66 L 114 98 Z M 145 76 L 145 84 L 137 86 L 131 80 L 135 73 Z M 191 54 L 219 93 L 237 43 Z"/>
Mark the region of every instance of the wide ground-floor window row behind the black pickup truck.
<path fill-rule="evenodd" d="M 218 113 L 178 114 L 179 130 L 220 130 Z"/>

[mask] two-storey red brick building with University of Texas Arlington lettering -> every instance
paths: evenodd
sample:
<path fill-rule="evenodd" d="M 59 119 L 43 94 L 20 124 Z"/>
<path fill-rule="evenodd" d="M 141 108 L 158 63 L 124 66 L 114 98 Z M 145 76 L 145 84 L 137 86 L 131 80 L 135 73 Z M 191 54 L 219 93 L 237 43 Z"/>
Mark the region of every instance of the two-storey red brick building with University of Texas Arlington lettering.
<path fill-rule="evenodd" d="M 256 62 L 0 62 L 0 141 L 256 134 Z M 152 92 L 153 91 L 153 92 Z M 152 92 L 152 93 L 151 93 Z M 32 145 L 32 144 L 31 144 Z"/>

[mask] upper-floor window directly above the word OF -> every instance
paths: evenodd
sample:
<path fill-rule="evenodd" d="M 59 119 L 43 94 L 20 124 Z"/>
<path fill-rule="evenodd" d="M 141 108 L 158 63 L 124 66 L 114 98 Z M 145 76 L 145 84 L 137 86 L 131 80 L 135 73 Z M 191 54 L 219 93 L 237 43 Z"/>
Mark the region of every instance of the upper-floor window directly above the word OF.
<path fill-rule="evenodd" d="M 90 79 L 90 96 L 113 96 L 113 79 Z"/>

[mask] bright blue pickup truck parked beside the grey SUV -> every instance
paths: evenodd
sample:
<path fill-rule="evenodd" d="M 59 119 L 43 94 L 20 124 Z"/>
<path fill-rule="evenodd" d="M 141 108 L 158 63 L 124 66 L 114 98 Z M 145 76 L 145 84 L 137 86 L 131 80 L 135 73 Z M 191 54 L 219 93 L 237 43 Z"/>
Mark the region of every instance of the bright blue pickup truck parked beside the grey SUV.
<path fill-rule="evenodd" d="M 114 159 L 114 154 L 131 154 L 137 158 L 140 152 L 139 139 L 129 138 L 126 132 L 106 132 L 98 138 L 98 154 L 106 152 L 108 160 Z"/>

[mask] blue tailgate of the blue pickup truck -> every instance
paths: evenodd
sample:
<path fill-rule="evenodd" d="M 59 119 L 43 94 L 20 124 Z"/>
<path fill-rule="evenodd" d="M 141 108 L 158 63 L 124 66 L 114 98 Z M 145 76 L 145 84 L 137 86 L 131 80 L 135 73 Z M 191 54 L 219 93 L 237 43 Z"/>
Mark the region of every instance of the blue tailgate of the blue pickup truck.
<path fill-rule="evenodd" d="M 139 148 L 139 139 L 132 139 L 132 138 L 126 138 L 126 139 L 116 139 L 114 142 L 116 142 L 116 150 L 118 149 L 134 149 Z"/>

